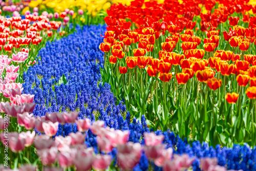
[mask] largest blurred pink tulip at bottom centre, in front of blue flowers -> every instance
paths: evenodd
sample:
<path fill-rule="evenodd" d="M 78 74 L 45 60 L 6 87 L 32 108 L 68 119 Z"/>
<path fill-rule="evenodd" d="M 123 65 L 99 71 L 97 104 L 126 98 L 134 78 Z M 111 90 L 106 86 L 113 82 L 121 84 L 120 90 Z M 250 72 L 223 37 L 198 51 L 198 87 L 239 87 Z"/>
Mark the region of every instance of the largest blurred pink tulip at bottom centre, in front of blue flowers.
<path fill-rule="evenodd" d="M 123 170 L 130 170 L 139 163 L 142 147 L 140 143 L 128 142 L 117 146 L 117 159 L 119 167 Z"/>

